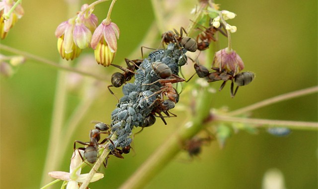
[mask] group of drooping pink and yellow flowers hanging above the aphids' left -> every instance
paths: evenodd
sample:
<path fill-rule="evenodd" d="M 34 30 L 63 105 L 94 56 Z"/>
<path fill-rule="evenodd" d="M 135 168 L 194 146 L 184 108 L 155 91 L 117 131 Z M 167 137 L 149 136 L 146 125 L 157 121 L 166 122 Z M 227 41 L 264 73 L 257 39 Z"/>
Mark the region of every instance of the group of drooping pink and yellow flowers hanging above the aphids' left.
<path fill-rule="evenodd" d="M 63 59 L 73 60 L 82 49 L 91 47 L 96 62 L 109 66 L 117 51 L 119 28 L 111 22 L 110 13 L 97 27 L 98 18 L 92 12 L 93 8 L 84 4 L 76 17 L 57 27 L 55 36 L 58 38 L 58 51 Z"/>

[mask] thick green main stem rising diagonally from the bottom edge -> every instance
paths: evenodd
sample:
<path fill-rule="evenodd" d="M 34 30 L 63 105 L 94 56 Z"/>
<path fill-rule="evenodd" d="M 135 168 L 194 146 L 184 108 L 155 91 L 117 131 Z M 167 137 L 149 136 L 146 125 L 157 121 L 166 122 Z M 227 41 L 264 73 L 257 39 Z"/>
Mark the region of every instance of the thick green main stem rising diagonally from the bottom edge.
<path fill-rule="evenodd" d="M 212 98 L 210 93 L 204 89 L 197 99 L 196 115 L 192 121 L 179 127 L 170 135 L 120 189 L 145 187 L 178 154 L 184 141 L 192 138 L 205 127 L 204 122 L 209 117 Z"/>

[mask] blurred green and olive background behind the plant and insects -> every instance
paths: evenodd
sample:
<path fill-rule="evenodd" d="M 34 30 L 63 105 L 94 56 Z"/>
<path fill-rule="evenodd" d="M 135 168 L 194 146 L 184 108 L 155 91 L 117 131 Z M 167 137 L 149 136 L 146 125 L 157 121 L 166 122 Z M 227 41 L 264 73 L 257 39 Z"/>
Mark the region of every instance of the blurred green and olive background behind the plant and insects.
<path fill-rule="evenodd" d="M 83 3 L 92 1 L 83 1 Z M 167 1 L 171 7 L 184 13 L 185 24 L 191 18 L 195 0 Z M 229 23 L 238 26 L 232 35 L 233 48 L 245 63 L 245 69 L 255 72 L 256 79 L 239 89 L 231 99 L 229 85 L 212 94 L 214 107 L 235 110 L 279 94 L 317 85 L 318 40 L 317 0 L 220 0 L 221 9 L 238 16 Z M 109 2 L 96 6 L 99 21 L 106 15 Z M 54 31 L 67 19 L 63 0 L 23 1 L 25 15 L 10 30 L 1 44 L 58 62 Z M 173 10 L 173 9 L 172 9 Z M 154 21 L 150 1 L 118 0 L 112 13 L 121 31 L 115 64 L 124 65 L 123 59 L 139 48 L 139 43 Z M 176 17 L 175 19 L 179 19 Z M 184 27 L 186 25 L 183 25 Z M 166 26 L 168 27 L 168 26 Z M 172 27 L 179 28 L 177 22 Z M 168 28 L 171 29 L 171 28 Z M 159 40 L 159 35 L 158 39 Z M 156 43 L 156 47 L 158 43 Z M 221 41 L 221 47 L 226 47 Z M 155 47 L 155 48 L 156 48 Z M 85 50 L 83 54 L 91 54 Z M 11 55 L 1 51 L 1 54 Z M 111 75 L 114 68 L 92 65 Z M 189 68 L 192 70 L 192 67 Z M 1 189 L 35 189 L 40 187 L 42 170 L 48 146 L 52 108 L 56 88 L 57 69 L 28 60 L 10 78 L 1 77 Z M 74 140 L 88 140 L 91 120 L 110 123 L 110 113 L 116 101 L 103 83 L 100 96 L 82 118 Z M 211 84 L 215 88 L 219 84 Z M 114 90 L 119 95 L 120 90 Z M 180 102 L 186 101 L 187 96 Z M 68 113 L 79 101 L 79 95 L 68 96 Z M 318 121 L 318 98 L 312 94 L 252 112 L 252 118 L 290 121 Z M 190 111 L 190 108 L 188 110 Z M 136 135 L 134 151 L 125 159 L 112 157 L 108 168 L 102 169 L 105 178 L 89 185 L 93 189 L 118 188 L 152 154 L 186 118 L 183 112 L 173 110 L 177 118 L 160 120 L 156 125 Z M 241 131 L 233 135 L 224 149 L 217 142 L 204 146 L 198 158 L 185 163 L 189 157 L 182 152 L 170 162 L 148 189 L 202 188 L 202 189 L 259 189 L 264 173 L 271 168 L 282 171 L 288 189 L 318 188 L 317 131 L 293 130 L 285 137 L 276 137 L 260 129 L 258 134 Z M 73 145 L 68 146 L 63 165 L 58 170 L 68 171 Z M 62 157 L 56 157 L 62 158 Z M 88 170 L 88 168 L 87 168 Z M 87 171 L 86 169 L 83 171 Z M 53 171 L 53 170 L 52 170 Z M 143 179 L 143 178 L 140 178 Z M 54 188 L 59 188 L 56 184 Z"/>

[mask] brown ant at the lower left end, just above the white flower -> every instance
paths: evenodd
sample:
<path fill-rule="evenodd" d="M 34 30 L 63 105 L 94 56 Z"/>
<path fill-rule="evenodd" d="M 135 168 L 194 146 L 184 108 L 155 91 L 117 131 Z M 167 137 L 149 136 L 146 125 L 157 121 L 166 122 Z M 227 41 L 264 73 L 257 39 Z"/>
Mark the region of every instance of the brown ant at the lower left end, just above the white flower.
<path fill-rule="evenodd" d="M 101 142 L 98 143 L 100 140 L 100 134 L 109 134 L 109 126 L 103 123 L 98 123 L 95 125 L 95 128 L 90 130 L 89 132 L 89 142 L 82 142 L 79 140 L 76 140 L 74 142 L 74 150 L 76 149 L 76 143 L 82 144 L 82 145 L 87 145 L 87 147 L 80 147 L 78 149 L 84 150 L 84 158 L 87 160 L 89 163 L 95 163 L 97 159 L 97 150 L 98 150 L 98 145 L 105 143 L 107 140 L 112 142 L 109 138 L 105 138 Z M 82 157 L 81 157 L 82 158 Z"/>

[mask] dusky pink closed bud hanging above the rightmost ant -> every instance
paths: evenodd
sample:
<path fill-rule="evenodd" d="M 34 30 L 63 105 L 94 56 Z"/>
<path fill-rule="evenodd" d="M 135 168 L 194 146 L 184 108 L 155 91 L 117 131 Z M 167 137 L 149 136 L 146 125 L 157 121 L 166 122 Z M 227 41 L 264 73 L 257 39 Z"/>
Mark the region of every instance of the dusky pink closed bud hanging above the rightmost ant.
<path fill-rule="evenodd" d="M 215 67 L 235 75 L 244 68 L 244 63 L 235 51 L 225 48 L 215 53 L 212 68 Z"/>

